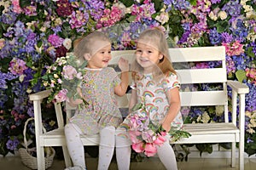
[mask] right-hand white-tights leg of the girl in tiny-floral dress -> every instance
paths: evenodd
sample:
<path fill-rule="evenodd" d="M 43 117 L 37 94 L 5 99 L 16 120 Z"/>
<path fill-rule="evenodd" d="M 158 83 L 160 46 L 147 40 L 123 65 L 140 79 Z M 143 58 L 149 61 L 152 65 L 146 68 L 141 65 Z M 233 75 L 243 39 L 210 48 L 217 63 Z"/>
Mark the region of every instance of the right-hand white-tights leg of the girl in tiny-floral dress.
<path fill-rule="evenodd" d="M 114 150 L 114 127 L 105 127 L 100 132 L 98 170 L 108 170 Z"/>

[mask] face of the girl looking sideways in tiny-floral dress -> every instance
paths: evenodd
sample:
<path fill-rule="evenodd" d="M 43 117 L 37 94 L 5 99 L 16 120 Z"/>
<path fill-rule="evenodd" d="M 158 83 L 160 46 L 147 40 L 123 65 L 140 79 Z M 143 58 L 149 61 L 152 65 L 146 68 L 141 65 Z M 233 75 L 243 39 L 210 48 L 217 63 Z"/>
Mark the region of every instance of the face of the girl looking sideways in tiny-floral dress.
<path fill-rule="evenodd" d="M 91 69 L 101 69 L 108 66 L 111 57 L 111 44 L 109 42 L 96 41 L 91 48 L 91 54 L 85 54 L 88 67 Z"/>

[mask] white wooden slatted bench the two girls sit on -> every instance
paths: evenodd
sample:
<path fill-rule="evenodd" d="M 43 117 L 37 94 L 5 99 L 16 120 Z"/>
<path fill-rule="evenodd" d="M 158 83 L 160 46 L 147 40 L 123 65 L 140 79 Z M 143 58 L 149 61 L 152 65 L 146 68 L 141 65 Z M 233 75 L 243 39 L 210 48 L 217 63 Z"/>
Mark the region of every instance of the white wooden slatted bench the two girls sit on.
<path fill-rule="evenodd" d="M 185 124 L 184 130 L 192 136 L 189 139 L 181 139 L 176 144 L 198 144 L 198 143 L 232 143 L 231 167 L 236 167 L 236 143 L 239 143 L 239 168 L 244 169 L 244 126 L 245 126 L 245 94 L 248 93 L 246 85 L 240 82 L 227 81 L 225 67 L 224 47 L 204 48 L 170 48 L 172 63 L 221 61 L 220 68 L 212 69 L 180 69 L 177 70 L 182 84 L 216 83 L 223 84 L 223 89 L 217 91 L 190 91 L 181 92 L 182 106 L 209 106 L 224 105 L 224 122 L 221 123 L 196 123 Z M 119 57 L 131 61 L 134 54 L 132 50 L 113 51 L 113 59 L 110 64 L 117 64 Z M 232 121 L 228 116 L 227 86 L 232 88 Z M 41 101 L 49 96 L 50 91 L 45 90 L 37 94 L 29 95 L 34 105 L 35 133 L 38 150 L 38 169 L 44 169 L 44 146 L 62 146 L 66 167 L 72 165 L 67 152 L 64 137 L 64 121 L 61 105 L 55 104 L 58 128 L 43 133 Z M 129 95 L 118 98 L 119 107 L 128 107 Z M 236 116 L 237 99 L 239 99 L 239 116 Z M 67 117 L 71 116 L 73 108 L 67 107 Z M 44 113 L 43 113 L 44 114 Z M 238 122 L 238 123 L 237 123 Z M 99 144 L 99 136 L 87 136 L 82 138 L 84 145 Z"/>

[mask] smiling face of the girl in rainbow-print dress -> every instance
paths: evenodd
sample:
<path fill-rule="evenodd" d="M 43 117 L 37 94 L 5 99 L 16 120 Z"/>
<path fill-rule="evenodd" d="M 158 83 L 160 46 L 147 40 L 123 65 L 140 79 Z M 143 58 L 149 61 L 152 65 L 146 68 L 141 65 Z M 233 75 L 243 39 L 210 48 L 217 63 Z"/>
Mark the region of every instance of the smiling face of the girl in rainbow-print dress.
<path fill-rule="evenodd" d="M 160 54 L 160 52 L 152 45 L 144 42 L 137 42 L 136 60 L 137 63 L 143 67 L 144 73 L 153 72 L 155 66 L 162 58 L 163 54 Z"/>

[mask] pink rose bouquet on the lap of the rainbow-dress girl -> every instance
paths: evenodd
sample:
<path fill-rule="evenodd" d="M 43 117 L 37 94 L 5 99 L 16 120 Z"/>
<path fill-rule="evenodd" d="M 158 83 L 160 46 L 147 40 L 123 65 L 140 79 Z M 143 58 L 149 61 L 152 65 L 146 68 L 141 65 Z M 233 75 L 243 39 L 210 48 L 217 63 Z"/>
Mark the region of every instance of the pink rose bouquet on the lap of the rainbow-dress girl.
<path fill-rule="evenodd" d="M 145 106 L 140 103 L 133 108 L 128 123 L 129 134 L 131 138 L 131 147 L 137 153 L 144 153 L 146 156 L 154 156 L 157 152 L 157 146 L 166 142 L 166 130 L 161 126 L 154 125 L 149 120 L 148 111 Z M 189 138 L 190 133 L 183 130 L 177 130 L 172 127 L 169 132 L 172 141 L 177 141 L 181 138 Z"/>

